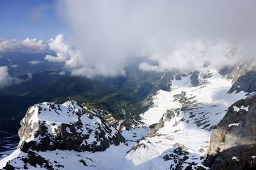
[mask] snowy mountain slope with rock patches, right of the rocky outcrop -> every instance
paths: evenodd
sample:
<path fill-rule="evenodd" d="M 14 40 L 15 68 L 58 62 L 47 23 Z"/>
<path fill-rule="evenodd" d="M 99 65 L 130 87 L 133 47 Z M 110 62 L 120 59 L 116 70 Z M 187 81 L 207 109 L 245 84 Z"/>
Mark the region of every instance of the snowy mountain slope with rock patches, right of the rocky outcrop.
<path fill-rule="evenodd" d="M 172 90 L 159 90 L 152 108 L 141 114 L 146 125 L 157 125 L 136 145 L 136 150 L 127 154 L 134 164 L 149 162 L 142 166 L 145 169 L 157 169 L 159 164 L 162 165 L 159 169 L 204 167 L 203 156 L 211 130 L 224 117 L 228 106 L 244 98 L 245 93 L 228 94 L 232 81 L 218 71 L 200 73 L 197 86 L 191 83 L 192 75 L 172 80 Z M 141 159 L 140 155 L 147 157 Z"/>

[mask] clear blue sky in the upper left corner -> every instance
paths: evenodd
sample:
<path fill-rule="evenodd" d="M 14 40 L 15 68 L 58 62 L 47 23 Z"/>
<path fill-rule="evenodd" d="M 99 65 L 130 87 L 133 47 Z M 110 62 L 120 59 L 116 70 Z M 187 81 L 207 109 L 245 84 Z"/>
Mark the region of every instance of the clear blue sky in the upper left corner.
<path fill-rule="evenodd" d="M 56 1 L 1 0 L 0 38 L 50 39 L 58 34 L 68 36 L 65 25 L 55 11 Z"/>

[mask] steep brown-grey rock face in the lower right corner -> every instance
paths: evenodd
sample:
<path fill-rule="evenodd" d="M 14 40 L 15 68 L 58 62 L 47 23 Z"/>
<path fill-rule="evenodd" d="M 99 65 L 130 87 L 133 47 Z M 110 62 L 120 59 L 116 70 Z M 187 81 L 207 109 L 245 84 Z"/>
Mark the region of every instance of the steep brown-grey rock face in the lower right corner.
<path fill-rule="evenodd" d="M 216 129 L 205 164 L 211 169 L 256 167 L 256 94 L 232 104 Z"/>

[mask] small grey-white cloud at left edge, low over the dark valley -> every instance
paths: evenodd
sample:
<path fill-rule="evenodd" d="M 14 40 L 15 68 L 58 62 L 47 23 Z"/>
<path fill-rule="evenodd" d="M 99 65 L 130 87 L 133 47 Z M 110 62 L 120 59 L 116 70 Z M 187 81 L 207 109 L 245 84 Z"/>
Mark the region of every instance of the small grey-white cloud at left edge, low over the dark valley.
<path fill-rule="evenodd" d="M 23 83 L 24 81 L 29 81 L 31 79 L 32 79 L 31 73 L 28 73 L 28 77 L 26 79 L 21 79 L 21 78 L 10 76 L 10 74 L 8 73 L 7 66 L 0 67 L 0 89 L 3 89 L 4 87 L 8 87 L 11 85 L 17 85 L 17 84 Z"/>

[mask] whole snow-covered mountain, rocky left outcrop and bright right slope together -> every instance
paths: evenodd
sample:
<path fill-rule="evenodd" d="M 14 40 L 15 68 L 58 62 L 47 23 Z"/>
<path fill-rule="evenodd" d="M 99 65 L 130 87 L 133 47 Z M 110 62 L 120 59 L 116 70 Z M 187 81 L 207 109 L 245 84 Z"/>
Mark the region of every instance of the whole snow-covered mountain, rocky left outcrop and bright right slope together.
<path fill-rule="evenodd" d="M 230 105 L 253 92 L 254 80 L 247 90 L 242 80 L 254 76 L 255 67 L 244 67 L 249 75 L 247 69 L 237 76 L 236 67 L 175 74 L 166 82 L 170 90 L 152 95 L 152 106 L 122 132 L 111 126 L 122 122 L 107 111 L 74 101 L 36 104 L 20 122 L 17 150 L 0 160 L 0 168 L 208 169 L 212 129 Z"/>

